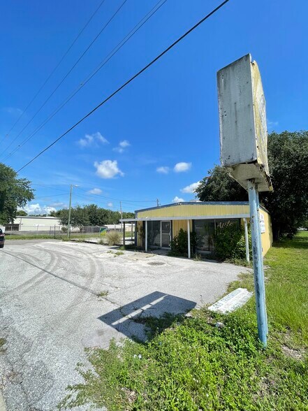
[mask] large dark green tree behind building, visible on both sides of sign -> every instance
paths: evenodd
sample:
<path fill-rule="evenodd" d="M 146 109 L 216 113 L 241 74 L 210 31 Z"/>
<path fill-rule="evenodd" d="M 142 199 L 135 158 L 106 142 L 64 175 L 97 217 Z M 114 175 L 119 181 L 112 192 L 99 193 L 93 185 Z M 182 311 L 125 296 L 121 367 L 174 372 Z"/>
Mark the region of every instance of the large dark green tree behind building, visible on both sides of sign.
<path fill-rule="evenodd" d="M 270 212 L 274 239 L 293 236 L 308 218 L 308 131 L 272 133 L 268 136 L 268 162 L 273 192 L 260 193 Z M 202 201 L 247 201 L 247 192 L 215 166 L 196 189 Z"/>

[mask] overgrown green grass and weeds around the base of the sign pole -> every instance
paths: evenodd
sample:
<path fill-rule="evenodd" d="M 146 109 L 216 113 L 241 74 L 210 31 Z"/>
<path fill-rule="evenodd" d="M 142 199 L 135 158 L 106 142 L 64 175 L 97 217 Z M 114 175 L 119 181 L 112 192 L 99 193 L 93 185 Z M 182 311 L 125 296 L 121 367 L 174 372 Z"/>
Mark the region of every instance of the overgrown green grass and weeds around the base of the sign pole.
<path fill-rule="evenodd" d="M 267 349 L 258 342 L 254 298 L 230 315 L 138 317 L 147 343 L 115 341 L 87 351 L 92 368 L 59 408 L 112 410 L 307 410 L 308 233 L 267 254 Z M 253 289 L 251 274 L 230 285 Z M 223 327 L 215 324 L 222 322 Z"/>

